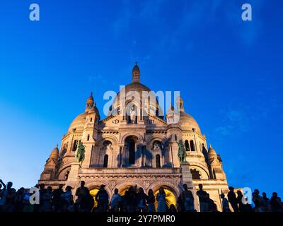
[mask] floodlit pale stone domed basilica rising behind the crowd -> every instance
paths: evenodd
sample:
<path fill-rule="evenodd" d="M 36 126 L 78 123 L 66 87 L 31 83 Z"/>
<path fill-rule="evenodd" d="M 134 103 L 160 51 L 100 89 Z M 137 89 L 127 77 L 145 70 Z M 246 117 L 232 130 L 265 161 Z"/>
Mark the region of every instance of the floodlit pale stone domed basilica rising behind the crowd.
<path fill-rule="evenodd" d="M 141 98 L 144 93 L 150 93 L 149 98 Z M 105 119 L 100 118 L 91 93 L 85 111 L 62 137 L 60 148 L 57 145 L 52 150 L 39 183 L 52 189 L 64 184 L 76 191 L 84 181 L 93 196 L 105 184 L 110 197 L 114 189 L 124 194 L 130 186 L 137 186 L 156 194 L 162 186 L 169 205 L 176 204 L 182 184 L 187 184 L 197 210 L 196 191 L 203 184 L 221 211 L 219 195 L 227 194 L 228 184 L 220 155 L 212 145 L 207 146 L 197 121 L 185 112 L 182 97 L 163 116 L 156 97 L 156 101 L 147 101 L 152 95 L 141 83 L 137 64 L 132 83 L 117 93 Z M 178 155 L 180 142 L 185 150 L 183 161 Z"/>

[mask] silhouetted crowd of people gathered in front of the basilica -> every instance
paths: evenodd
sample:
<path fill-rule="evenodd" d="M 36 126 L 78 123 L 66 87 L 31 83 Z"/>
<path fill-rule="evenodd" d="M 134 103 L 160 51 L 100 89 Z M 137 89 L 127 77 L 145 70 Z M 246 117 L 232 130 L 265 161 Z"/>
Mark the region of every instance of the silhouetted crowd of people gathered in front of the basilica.
<path fill-rule="evenodd" d="M 4 184 L 0 180 L 0 212 L 196 212 L 195 199 L 183 184 L 183 191 L 177 199 L 176 205 L 169 206 L 166 201 L 166 192 L 161 187 L 156 195 L 149 189 L 148 194 L 144 189 L 131 186 L 125 194 L 119 194 L 115 189 L 110 198 L 105 190 L 105 185 L 101 185 L 96 196 L 92 196 L 85 182 L 76 189 L 75 197 L 72 194 L 71 186 L 63 185 L 52 190 L 51 186 L 45 188 L 45 184 L 38 184 L 39 202 L 30 203 L 30 191 L 21 188 L 16 191 L 13 183 Z M 236 196 L 237 194 L 237 196 Z M 221 194 L 221 205 L 223 212 L 283 212 L 281 199 L 274 192 L 271 198 L 267 198 L 265 192 L 260 196 L 260 191 L 255 189 L 251 204 L 247 202 L 239 190 L 235 194 L 233 187 L 229 187 L 228 197 Z M 200 203 L 200 212 L 219 212 L 216 203 L 209 197 L 207 191 L 203 190 L 199 184 L 197 197 Z M 74 201 L 76 200 L 76 201 Z M 96 205 L 95 205 L 95 202 Z M 156 205 L 157 203 L 157 205 Z"/>

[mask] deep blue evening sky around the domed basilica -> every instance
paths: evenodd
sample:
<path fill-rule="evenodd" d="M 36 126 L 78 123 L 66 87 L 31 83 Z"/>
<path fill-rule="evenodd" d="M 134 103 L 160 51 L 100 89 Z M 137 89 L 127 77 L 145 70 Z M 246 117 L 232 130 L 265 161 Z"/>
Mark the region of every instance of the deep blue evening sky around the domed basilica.
<path fill-rule="evenodd" d="M 36 184 L 91 91 L 103 114 L 138 61 L 151 90 L 180 90 L 230 185 L 282 196 L 282 15 L 275 0 L 1 1 L 0 178 Z"/>

